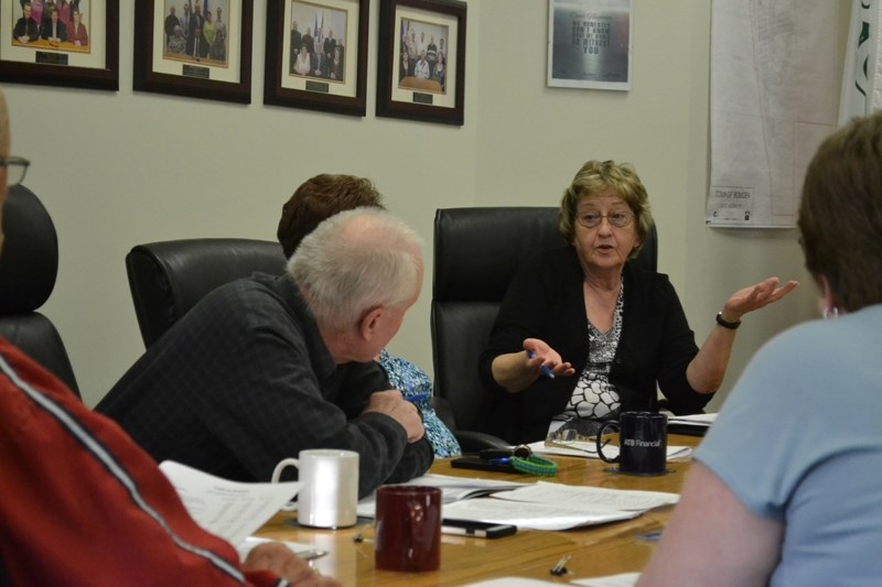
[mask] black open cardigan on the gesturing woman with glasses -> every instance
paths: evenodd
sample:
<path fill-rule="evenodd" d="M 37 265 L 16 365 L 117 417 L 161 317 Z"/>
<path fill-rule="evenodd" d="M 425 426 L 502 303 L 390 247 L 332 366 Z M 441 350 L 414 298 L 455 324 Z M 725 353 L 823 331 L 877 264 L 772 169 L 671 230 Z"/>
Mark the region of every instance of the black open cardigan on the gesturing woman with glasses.
<path fill-rule="evenodd" d="M 485 430 L 512 443 L 545 438 L 551 418 L 572 395 L 588 361 L 584 275 L 572 246 L 542 251 L 512 281 L 490 343 L 481 356 L 486 390 L 481 421 Z M 610 380 L 622 410 L 657 407 L 656 385 L 678 412 L 700 411 L 712 398 L 689 387 L 686 368 L 698 354 L 677 292 L 667 275 L 625 263 L 622 335 Z M 540 338 L 576 369 L 572 377 L 540 377 L 520 393 L 508 393 L 491 373 L 499 355 L 523 350 L 525 338 Z"/>

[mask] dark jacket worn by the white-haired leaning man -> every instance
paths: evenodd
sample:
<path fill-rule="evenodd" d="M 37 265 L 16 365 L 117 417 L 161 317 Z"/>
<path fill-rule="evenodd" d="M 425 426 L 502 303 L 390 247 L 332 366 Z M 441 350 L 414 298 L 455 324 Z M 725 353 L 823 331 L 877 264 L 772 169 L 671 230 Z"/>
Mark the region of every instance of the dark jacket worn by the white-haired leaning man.
<path fill-rule="evenodd" d="M 309 448 L 357 452 L 362 497 L 387 480 L 424 472 L 431 449 L 408 444 L 391 417 L 357 415 L 369 393 L 388 389 L 379 366 L 344 366 L 335 379 L 318 333 L 263 290 L 241 280 L 212 292 L 97 410 L 157 460 L 173 458 L 220 477 L 268 481 L 279 460 Z M 283 478 L 295 475 L 289 467 Z"/>

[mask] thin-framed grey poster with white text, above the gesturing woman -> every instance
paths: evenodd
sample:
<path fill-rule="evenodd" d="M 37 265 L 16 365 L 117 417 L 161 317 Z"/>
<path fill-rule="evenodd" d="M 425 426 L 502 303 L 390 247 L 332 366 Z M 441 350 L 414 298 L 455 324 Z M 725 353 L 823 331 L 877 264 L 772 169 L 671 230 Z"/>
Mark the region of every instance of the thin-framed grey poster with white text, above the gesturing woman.
<path fill-rule="evenodd" d="M 548 85 L 631 89 L 633 0 L 548 0 Z"/>

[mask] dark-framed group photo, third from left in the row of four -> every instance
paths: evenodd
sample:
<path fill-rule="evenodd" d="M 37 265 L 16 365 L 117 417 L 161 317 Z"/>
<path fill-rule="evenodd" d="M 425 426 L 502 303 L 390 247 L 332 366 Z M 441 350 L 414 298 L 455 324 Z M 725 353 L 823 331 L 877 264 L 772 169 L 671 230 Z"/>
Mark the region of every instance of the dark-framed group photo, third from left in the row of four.
<path fill-rule="evenodd" d="M 370 0 L 269 2 L 263 104 L 365 116 L 369 18 Z"/>

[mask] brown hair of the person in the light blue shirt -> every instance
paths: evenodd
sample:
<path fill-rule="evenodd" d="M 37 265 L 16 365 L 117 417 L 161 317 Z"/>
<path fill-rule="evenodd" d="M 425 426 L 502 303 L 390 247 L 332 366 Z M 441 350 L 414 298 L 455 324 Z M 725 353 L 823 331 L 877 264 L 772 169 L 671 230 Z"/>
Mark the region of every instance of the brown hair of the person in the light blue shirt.
<path fill-rule="evenodd" d="M 806 269 L 837 306 L 882 302 L 882 113 L 828 137 L 808 165 L 799 206 Z"/>

